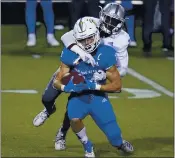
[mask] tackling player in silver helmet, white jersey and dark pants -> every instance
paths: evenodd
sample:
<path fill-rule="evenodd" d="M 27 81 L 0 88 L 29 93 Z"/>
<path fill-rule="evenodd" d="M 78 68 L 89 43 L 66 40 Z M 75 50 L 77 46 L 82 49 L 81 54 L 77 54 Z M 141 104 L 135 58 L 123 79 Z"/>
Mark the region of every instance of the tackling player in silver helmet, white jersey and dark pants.
<path fill-rule="evenodd" d="M 125 22 L 124 8 L 117 3 L 109 3 L 101 10 L 100 19 L 92 17 L 84 18 L 86 20 L 92 20 L 96 26 L 99 27 L 102 43 L 109 45 L 116 50 L 115 58 L 117 60 L 117 68 L 119 70 L 120 76 L 125 76 L 128 67 L 127 47 L 129 44 L 129 35 L 122 29 Z M 95 66 L 96 63 L 91 54 L 87 53 L 87 50 L 84 50 L 81 46 L 77 45 L 76 39 L 73 36 L 73 31 L 66 33 L 61 39 L 65 46 L 77 53 L 83 61 L 90 63 L 92 66 Z M 42 102 L 45 106 L 45 109 L 34 118 L 33 124 L 35 126 L 40 126 L 43 124 L 44 121 L 47 120 L 47 118 L 56 110 L 55 99 L 59 96 L 59 94 L 61 94 L 61 91 L 54 89 L 52 84 L 57 72 L 53 75 L 43 94 Z M 94 78 L 104 77 L 105 73 L 95 73 L 94 75 Z M 56 136 L 56 150 L 65 149 L 65 137 L 69 127 L 70 122 L 66 112 L 63 125 Z"/>

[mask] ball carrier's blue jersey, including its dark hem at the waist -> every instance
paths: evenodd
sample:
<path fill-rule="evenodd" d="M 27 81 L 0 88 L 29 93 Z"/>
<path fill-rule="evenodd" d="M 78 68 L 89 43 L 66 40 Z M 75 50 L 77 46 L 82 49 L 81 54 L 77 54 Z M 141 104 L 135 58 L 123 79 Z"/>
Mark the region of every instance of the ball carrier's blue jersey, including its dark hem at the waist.
<path fill-rule="evenodd" d="M 115 50 L 106 45 L 99 45 L 99 47 L 96 49 L 95 54 L 93 55 L 96 66 L 92 66 L 91 64 L 87 64 L 80 60 L 78 63 L 75 63 L 75 61 L 79 58 L 79 55 L 75 54 L 71 50 L 64 48 L 61 54 L 61 61 L 69 66 L 71 68 L 71 71 L 77 71 L 82 76 L 84 76 L 85 79 L 91 80 L 93 82 L 99 83 L 99 84 L 105 84 L 106 79 L 101 81 L 94 81 L 93 75 L 95 72 L 99 71 L 106 71 L 112 67 L 113 65 L 116 65 L 116 57 L 115 57 Z M 80 94 L 72 93 L 69 97 L 71 99 L 72 97 L 78 97 L 80 100 L 86 103 L 91 103 L 93 99 L 96 99 L 97 96 L 101 97 L 107 97 L 105 92 L 101 91 L 85 91 Z"/>

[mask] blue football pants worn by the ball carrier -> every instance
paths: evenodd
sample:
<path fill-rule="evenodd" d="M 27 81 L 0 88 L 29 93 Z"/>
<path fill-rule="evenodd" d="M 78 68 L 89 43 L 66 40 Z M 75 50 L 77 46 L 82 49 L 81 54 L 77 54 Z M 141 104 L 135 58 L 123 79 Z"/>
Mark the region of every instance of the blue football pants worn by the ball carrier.
<path fill-rule="evenodd" d="M 107 97 L 94 96 L 90 104 L 73 97 L 68 101 L 67 108 L 70 120 L 73 118 L 84 119 L 90 115 L 113 146 L 119 147 L 122 144 L 121 131 Z"/>

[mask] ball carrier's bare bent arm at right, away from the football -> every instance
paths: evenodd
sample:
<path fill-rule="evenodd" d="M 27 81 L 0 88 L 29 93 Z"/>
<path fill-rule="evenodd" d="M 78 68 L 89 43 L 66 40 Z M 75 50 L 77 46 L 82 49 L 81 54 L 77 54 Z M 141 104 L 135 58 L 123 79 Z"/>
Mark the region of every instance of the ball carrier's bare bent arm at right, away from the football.
<path fill-rule="evenodd" d="M 100 86 L 101 91 L 106 92 L 121 91 L 122 82 L 120 79 L 120 74 L 115 65 L 106 71 L 106 78 L 109 80 L 109 83 L 101 85 Z"/>

